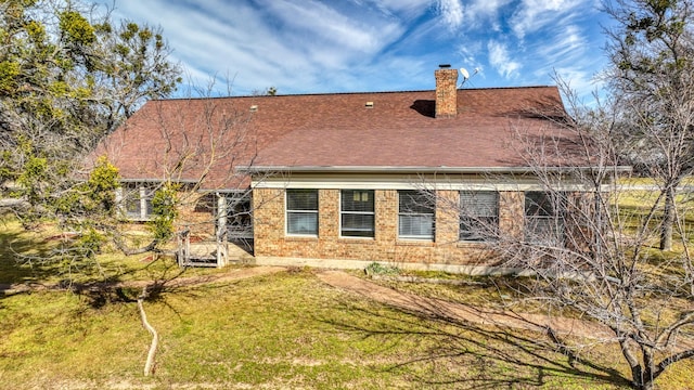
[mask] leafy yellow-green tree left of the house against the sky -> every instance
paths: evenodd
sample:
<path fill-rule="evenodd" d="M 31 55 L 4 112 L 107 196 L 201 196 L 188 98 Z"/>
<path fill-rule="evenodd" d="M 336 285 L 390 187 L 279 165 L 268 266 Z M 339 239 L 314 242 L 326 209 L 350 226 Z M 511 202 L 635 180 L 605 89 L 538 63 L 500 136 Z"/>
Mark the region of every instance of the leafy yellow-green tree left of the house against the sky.
<path fill-rule="evenodd" d="M 83 156 L 180 82 L 159 29 L 95 11 L 79 0 L 0 0 L 0 197 L 16 200 L 3 208 L 27 223 L 95 211 L 67 206 L 103 190 L 83 187 Z"/>

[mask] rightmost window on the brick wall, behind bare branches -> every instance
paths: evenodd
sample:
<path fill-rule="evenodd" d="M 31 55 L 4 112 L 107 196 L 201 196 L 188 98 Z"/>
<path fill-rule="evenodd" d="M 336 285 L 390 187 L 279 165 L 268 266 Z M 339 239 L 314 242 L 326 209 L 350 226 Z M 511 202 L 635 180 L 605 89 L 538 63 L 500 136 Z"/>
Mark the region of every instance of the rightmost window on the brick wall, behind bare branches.
<path fill-rule="evenodd" d="M 532 243 L 556 245 L 562 239 L 564 220 L 561 194 L 525 194 L 525 237 Z"/>

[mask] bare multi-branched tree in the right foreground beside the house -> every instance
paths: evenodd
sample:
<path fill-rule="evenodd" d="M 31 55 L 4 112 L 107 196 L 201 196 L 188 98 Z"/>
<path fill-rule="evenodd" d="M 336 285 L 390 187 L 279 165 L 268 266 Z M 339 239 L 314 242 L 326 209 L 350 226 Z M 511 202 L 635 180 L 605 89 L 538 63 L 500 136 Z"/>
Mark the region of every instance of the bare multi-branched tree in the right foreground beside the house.
<path fill-rule="evenodd" d="M 549 127 L 541 139 L 514 129 L 516 152 L 539 188 L 524 194 L 522 231 L 499 229 L 465 202 L 455 210 L 503 265 L 532 275 L 518 280 L 526 299 L 550 315 L 608 327 L 612 336 L 604 341 L 618 346 L 633 387 L 651 389 L 667 367 L 694 356 L 689 210 L 674 204 L 683 249 L 659 256 L 653 247 L 667 194 L 637 192 L 616 180 L 625 173 L 620 156 L 630 153 L 616 135 L 624 118 L 612 105 L 619 102 L 587 109 L 565 90 L 573 118 L 555 123 L 564 129 Z M 581 347 L 580 340 L 562 340 L 551 326 L 548 334 L 566 351 Z"/>

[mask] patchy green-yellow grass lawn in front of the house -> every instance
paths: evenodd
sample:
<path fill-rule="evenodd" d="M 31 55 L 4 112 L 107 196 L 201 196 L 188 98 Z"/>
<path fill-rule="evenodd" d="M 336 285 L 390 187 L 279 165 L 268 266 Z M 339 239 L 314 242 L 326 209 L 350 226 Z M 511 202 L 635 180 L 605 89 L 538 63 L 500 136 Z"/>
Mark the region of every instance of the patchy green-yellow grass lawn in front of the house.
<path fill-rule="evenodd" d="M 54 283 L 60 266 L 29 269 L 15 250 L 42 250 L 44 235 L 0 232 L 0 283 Z M 80 281 L 175 275 L 171 260 L 100 257 Z M 51 268 L 56 266 L 56 268 Z M 193 270 L 189 275 L 234 272 Z M 627 389 L 619 351 L 587 346 L 568 358 L 539 334 L 423 317 L 322 283 L 317 270 L 165 289 L 145 302 L 160 343 L 142 374 L 150 335 L 137 289 L 0 295 L 0 389 Z M 449 275 L 450 276 L 450 275 Z M 454 278 L 454 277 L 453 277 Z M 408 288 L 394 284 L 399 288 Z M 509 299 L 496 284 L 419 285 L 412 290 L 483 304 Z M 510 297 L 513 298 L 512 296 Z M 691 388 L 692 361 L 658 379 Z"/>

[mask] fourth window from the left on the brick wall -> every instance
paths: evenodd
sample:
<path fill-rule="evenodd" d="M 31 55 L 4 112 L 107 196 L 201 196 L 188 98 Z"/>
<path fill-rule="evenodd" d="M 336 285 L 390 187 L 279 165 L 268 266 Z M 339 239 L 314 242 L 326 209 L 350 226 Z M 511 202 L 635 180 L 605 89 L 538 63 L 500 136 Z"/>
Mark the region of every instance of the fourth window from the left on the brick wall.
<path fill-rule="evenodd" d="M 460 239 L 484 242 L 499 233 L 499 193 L 461 191 Z"/>

